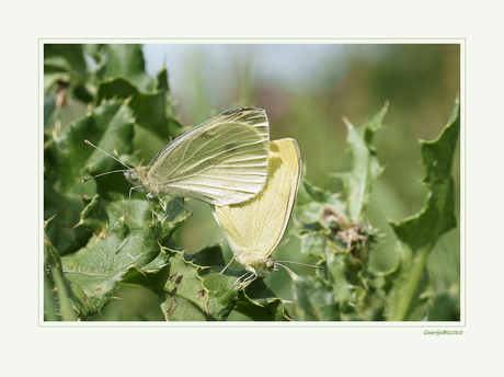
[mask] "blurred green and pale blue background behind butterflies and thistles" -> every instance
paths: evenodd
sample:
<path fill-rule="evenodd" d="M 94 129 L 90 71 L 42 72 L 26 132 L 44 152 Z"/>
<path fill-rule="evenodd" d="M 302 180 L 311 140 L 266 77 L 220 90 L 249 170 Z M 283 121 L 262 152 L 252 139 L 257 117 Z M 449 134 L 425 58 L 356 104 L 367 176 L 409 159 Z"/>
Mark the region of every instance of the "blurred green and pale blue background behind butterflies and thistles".
<path fill-rule="evenodd" d="M 426 190 L 420 182 L 424 170 L 416 139 L 436 138 L 459 96 L 458 44 L 148 44 L 144 46 L 144 55 L 151 77 L 165 65 L 176 114 L 184 126 L 195 126 L 237 106 L 265 108 L 271 139 L 295 138 L 301 150 L 306 179 L 333 193 L 340 193 L 342 185 L 331 173 L 350 169 L 342 117 L 358 126 L 389 101 L 386 126 L 375 137 L 386 170 L 376 184 L 365 222 L 385 235 L 370 255 L 370 269 L 383 271 L 394 265 L 396 239 L 386 217 L 400 220 L 414 215 L 425 201 Z M 82 113 L 84 110 L 82 105 Z M 75 118 L 76 113 L 68 116 Z M 145 153 L 145 163 L 164 147 L 141 129 L 135 141 Z M 454 168 L 458 214 L 459 156 Z M 194 253 L 222 241 L 229 261 L 232 254 L 209 206 L 197 201 L 188 201 L 186 205 L 194 216 L 176 232 L 177 245 Z M 287 237 L 273 256 L 310 262 L 300 255 L 299 241 Z M 236 262 L 233 266 L 239 267 Z M 440 239 L 427 266 L 435 292 L 459 290 L 459 228 Z M 300 274 L 313 273 L 297 266 L 294 270 Z M 266 283 L 279 297 L 291 298 L 285 271 L 266 277 Z M 122 287 L 117 294 L 123 300 L 105 308 L 104 316 L 110 312 L 107 319 L 163 320 L 150 293 Z M 123 311 L 131 302 L 136 302 L 128 309 L 133 311 Z"/>

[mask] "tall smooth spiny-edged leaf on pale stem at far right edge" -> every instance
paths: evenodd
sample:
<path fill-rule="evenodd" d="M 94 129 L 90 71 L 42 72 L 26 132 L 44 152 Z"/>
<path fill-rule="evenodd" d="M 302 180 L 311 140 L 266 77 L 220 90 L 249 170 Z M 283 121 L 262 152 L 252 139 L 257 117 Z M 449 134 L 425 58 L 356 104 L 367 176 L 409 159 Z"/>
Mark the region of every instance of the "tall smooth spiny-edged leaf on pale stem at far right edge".
<path fill-rule="evenodd" d="M 390 274 L 394 279 L 388 295 L 388 319 L 403 320 L 414 306 L 415 292 L 425 269 L 428 252 L 440 236 L 457 226 L 453 161 L 460 130 L 457 101 L 446 127 L 434 141 L 421 141 L 423 180 L 428 190 L 421 212 L 402 221 L 389 220 L 399 238 L 398 264 Z"/>

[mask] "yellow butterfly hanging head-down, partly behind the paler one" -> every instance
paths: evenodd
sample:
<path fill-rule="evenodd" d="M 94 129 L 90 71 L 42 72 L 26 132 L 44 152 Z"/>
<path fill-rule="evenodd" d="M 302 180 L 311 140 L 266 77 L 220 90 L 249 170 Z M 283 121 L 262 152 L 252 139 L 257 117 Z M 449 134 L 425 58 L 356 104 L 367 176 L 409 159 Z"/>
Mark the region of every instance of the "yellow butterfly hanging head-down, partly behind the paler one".
<path fill-rule="evenodd" d="M 259 276 L 259 269 L 268 274 L 280 265 L 294 274 L 279 263 L 289 261 L 276 261 L 270 255 L 289 222 L 300 176 L 301 158 L 297 141 L 290 138 L 271 141 L 270 174 L 264 190 L 249 202 L 214 207 L 214 216 L 233 252 L 231 262 L 236 259 L 250 274 L 241 284 L 241 289 Z"/>

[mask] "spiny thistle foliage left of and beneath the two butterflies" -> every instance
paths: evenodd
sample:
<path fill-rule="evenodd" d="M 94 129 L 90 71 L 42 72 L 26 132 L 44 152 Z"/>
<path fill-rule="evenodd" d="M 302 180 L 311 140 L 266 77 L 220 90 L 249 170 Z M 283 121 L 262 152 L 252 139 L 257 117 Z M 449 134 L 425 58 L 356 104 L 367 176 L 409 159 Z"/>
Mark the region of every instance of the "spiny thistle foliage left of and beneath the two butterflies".
<path fill-rule="evenodd" d="M 154 203 L 152 224 L 146 198 L 134 195 L 128 205 L 130 185 L 122 174 L 82 183 L 89 176 L 124 169 L 84 139 L 136 165 L 136 127 L 163 142 L 180 135 L 165 69 L 149 79 L 138 46 L 59 45 L 46 46 L 45 52 L 46 91 L 64 85 L 68 95 L 92 104 L 83 118 L 60 130 L 55 126 L 57 115 L 45 117 L 46 319 L 84 320 L 101 313 L 119 284 L 125 284 L 152 290 L 167 320 L 226 320 L 232 310 L 255 320 L 289 320 L 286 302 L 262 279 L 243 293 L 236 284 L 243 271 L 228 269 L 218 275 L 225 265 L 220 245 L 196 254 L 174 248 L 173 232 L 186 219 L 183 198 L 163 201 L 165 212 Z M 96 62 L 94 75 L 82 71 L 81 65 L 72 66 L 72 61 L 84 61 L 84 54 Z M 76 94 L 83 82 L 94 96 Z"/>

